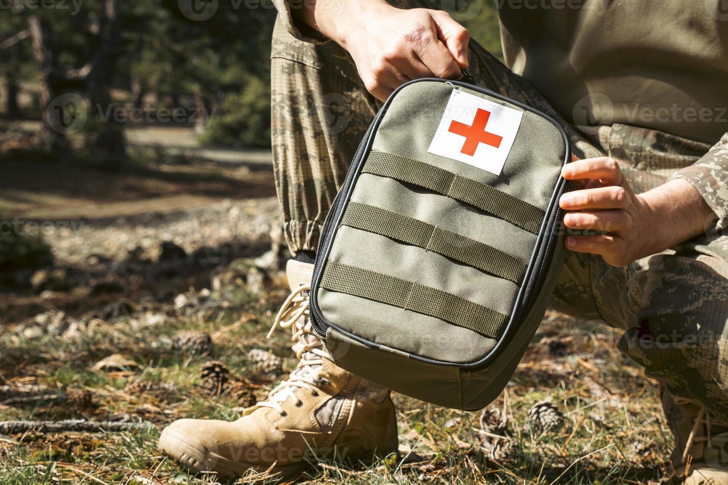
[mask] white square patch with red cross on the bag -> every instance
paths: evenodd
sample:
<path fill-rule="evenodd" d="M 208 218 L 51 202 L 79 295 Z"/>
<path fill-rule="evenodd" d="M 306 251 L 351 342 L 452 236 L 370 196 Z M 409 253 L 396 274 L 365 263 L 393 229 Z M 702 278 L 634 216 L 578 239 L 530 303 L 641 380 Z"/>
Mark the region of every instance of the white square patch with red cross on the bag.
<path fill-rule="evenodd" d="M 427 150 L 500 175 L 523 113 L 453 89 Z"/>

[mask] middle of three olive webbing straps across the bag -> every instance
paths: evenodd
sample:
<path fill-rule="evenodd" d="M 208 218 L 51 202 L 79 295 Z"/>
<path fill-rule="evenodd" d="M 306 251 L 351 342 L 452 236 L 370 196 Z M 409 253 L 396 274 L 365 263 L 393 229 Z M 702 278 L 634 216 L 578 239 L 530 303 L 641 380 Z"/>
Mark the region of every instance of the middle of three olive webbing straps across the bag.
<path fill-rule="evenodd" d="M 349 202 L 341 224 L 413 244 L 517 284 L 526 274 L 523 262 L 488 244 L 368 204 Z"/>

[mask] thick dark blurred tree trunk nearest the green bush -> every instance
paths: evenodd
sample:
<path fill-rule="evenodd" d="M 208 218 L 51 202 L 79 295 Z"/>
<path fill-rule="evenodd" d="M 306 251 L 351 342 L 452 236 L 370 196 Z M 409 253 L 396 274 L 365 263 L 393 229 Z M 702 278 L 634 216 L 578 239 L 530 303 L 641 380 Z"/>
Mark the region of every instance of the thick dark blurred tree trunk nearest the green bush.
<path fill-rule="evenodd" d="M 98 17 L 98 46 L 93 53 L 91 69 L 86 77 L 92 111 L 99 113 L 113 110 L 109 87 L 116 68 L 116 58 L 122 52 L 121 15 L 119 0 L 104 0 L 103 12 Z M 100 120 L 95 127 L 95 136 L 90 150 L 102 156 L 110 157 L 112 163 L 127 161 L 127 149 L 124 143 L 123 125 L 109 116 Z"/>

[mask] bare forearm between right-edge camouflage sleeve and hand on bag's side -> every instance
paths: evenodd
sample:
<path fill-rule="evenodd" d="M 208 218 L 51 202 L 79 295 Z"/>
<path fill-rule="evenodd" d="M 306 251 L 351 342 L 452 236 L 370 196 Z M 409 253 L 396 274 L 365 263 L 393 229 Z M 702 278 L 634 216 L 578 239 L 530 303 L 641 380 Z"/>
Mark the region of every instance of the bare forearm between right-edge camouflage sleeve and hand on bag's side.
<path fill-rule="evenodd" d="M 652 227 L 643 241 L 644 255 L 662 252 L 705 233 L 716 220 L 703 196 L 684 179 L 674 179 L 641 193 L 638 199 L 649 214 Z"/>

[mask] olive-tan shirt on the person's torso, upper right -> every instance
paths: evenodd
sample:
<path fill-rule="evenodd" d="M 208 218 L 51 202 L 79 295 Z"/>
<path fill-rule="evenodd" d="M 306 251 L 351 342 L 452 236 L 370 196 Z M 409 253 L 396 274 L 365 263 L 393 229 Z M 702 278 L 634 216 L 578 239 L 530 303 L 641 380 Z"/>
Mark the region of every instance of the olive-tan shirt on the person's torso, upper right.
<path fill-rule="evenodd" d="M 506 64 L 575 124 L 716 143 L 728 131 L 721 0 L 496 0 Z"/>

